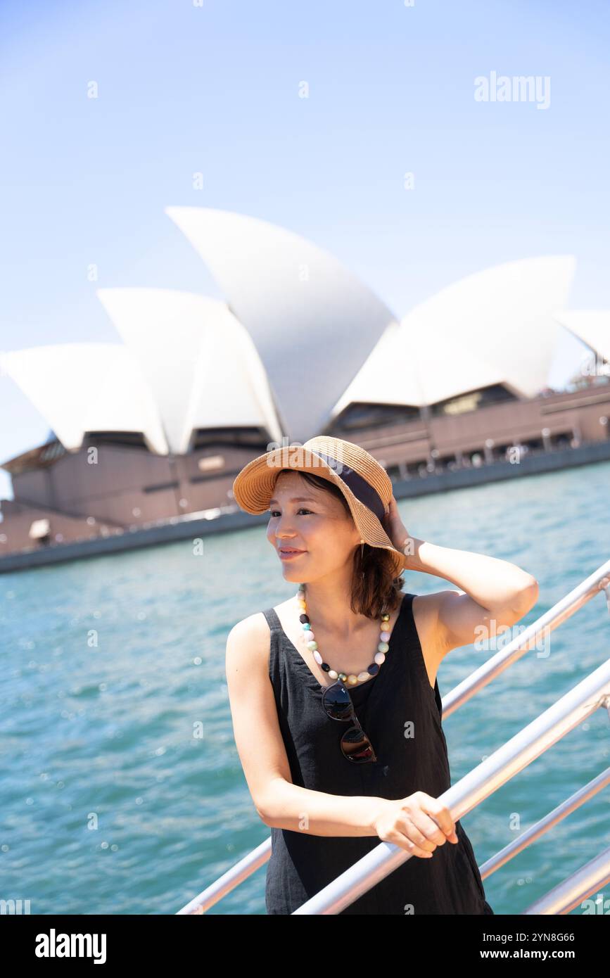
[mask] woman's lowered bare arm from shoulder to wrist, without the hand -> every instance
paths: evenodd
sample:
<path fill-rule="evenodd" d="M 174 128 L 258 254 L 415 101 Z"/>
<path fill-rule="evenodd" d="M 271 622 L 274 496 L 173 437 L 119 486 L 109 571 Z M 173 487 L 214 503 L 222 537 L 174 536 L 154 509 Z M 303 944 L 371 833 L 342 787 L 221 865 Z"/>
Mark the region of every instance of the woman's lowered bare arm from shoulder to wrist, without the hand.
<path fill-rule="evenodd" d="M 272 828 L 312 835 L 376 835 L 387 799 L 327 794 L 292 783 L 269 678 L 269 645 L 261 612 L 238 622 L 227 639 L 233 730 L 259 818 Z"/>

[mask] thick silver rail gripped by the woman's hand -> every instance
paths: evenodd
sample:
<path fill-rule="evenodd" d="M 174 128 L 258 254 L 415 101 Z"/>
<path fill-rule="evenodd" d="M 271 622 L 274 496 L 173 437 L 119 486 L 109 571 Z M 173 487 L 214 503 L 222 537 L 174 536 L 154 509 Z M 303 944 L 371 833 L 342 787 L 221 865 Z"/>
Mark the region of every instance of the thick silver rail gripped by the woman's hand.
<path fill-rule="evenodd" d="M 549 706 L 536 720 L 516 733 L 478 767 L 439 795 L 457 822 L 485 798 L 531 764 L 600 706 L 610 707 L 610 659 L 574 689 Z M 451 845 L 452 843 L 444 843 Z M 372 886 L 412 859 L 391 842 L 381 842 L 354 866 L 307 900 L 293 915 L 340 913 Z"/>

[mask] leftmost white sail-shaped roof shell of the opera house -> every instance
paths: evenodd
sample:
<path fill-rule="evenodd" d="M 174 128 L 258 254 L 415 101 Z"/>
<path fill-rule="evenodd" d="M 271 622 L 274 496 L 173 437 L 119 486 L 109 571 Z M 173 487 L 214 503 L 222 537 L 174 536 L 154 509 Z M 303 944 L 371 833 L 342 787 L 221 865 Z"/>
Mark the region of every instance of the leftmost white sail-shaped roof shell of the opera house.
<path fill-rule="evenodd" d="M 153 452 L 167 453 L 151 389 L 126 347 L 34 346 L 3 354 L 2 364 L 68 451 L 85 431 L 137 431 Z"/>

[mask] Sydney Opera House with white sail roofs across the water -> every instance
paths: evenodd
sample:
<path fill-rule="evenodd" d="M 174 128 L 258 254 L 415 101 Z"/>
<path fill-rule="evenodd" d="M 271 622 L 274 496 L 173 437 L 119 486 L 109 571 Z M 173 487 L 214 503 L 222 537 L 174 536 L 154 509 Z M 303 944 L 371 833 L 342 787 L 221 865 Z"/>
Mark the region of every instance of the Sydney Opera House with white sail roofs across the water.
<path fill-rule="evenodd" d="M 569 310 L 571 256 L 485 269 L 397 318 L 281 227 L 166 213 L 224 299 L 99 289 L 116 342 L 3 356 L 51 433 L 3 463 L 14 499 L 0 503 L 0 569 L 76 542 L 144 545 L 152 527 L 151 540 L 181 523 L 190 535 L 197 519 L 228 527 L 240 468 L 313 434 L 363 445 L 397 498 L 610 458 L 610 314 Z M 553 391 L 565 331 L 586 344 L 588 366 Z"/>

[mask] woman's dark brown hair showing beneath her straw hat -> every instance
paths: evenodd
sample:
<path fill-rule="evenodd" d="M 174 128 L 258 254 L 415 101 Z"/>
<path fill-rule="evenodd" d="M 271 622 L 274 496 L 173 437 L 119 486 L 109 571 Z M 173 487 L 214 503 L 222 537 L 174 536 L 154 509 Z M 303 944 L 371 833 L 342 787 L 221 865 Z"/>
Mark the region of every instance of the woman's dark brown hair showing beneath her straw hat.
<path fill-rule="evenodd" d="M 293 472 L 294 469 L 282 468 L 281 471 Z M 334 482 L 311 472 L 299 471 L 298 474 L 314 488 L 322 489 L 340 499 L 350 519 L 354 518 L 345 496 Z M 350 602 L 352 611 L 355 614 L 364 614 L 367 618 L 378 618 L 384 608 L 389 612 L 398 607 L 405 579 L 402 572 L 398 577 L 394 574 L 394 562 L 388 551 L 382 547 L 370 547 L 368 543 L 356 547 Z"/>

